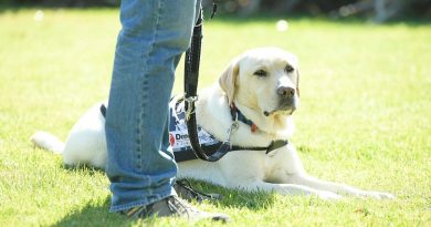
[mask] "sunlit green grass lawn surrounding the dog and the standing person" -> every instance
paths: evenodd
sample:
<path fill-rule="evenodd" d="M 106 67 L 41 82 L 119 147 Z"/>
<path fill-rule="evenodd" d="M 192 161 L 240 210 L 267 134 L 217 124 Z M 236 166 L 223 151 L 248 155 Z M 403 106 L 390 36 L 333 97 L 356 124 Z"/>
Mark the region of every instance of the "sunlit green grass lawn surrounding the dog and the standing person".
<path fill-rule="evenodd" d="M 107 97 L 117 11 L 44 10 L 41 22 L 34 12 L 0 14 L 0 226 L 140 225 L 108 213 L 103 172 L 64 168 L 61 157 L 29 143 L 36 130 L 64 138 L 88 106 Z M 199 208 L 231 215 L 228 226 L 430 226 L 430 24 L 298 18 L 281 33 L 275 22 L 208 21 L 200 85 L 214 82 L 246 49 L 276 45 L 296 53 L 302 106 L 292 141 L 306 169 L 397 199 L 324 202 L 196 183 L 224 196 Z M 176 93 L 181 87 L 179 69 Z M 175 219 L 144 224 L 189 226 Z"/>

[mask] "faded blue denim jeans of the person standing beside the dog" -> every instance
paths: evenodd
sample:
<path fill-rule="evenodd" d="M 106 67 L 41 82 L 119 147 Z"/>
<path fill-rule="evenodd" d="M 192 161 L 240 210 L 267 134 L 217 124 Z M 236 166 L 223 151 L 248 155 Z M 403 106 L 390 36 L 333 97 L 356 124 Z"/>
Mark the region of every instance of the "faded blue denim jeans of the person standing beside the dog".
<path fill-rule="evenodd" d="M 122 1 L 123 28 L 105 125 L 111 211 L 176 194 L 168 103 L 175 69 L 190 45 L 199 4 L 199 0 Z"/>

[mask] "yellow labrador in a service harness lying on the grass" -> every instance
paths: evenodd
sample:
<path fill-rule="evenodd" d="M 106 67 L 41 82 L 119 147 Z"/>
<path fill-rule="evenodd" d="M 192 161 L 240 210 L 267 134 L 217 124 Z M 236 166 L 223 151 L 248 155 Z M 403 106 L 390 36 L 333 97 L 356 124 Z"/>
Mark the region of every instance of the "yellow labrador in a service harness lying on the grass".
<path fill-rule="evenodd" d="M 200 92 L 197 120 L 202 128 L 221 141 L 227 138 L 232 122 L 238 122 L 239 127 L 232 132 L 230 141 L 244 148 L 230 152 L 216 163 L 180 162 L 178 177 L 248 192 L 259 189 L 322 198 L 343 195 L 393 198 L 389 193 L 362 190 L 309 176 L 291 143 L 266 152 L 248 148 L 269 147 L 292 135 L 292 113 L 299 102 L 298 81 L 296 56 L 281 49 L 254 49 L 234 59 L 218 83 Z M 104 168 L 107 151 L 105 120 L 99 106 L 99 103 L 94 105 L 77 121 L 65 144 L 43 132 L 35 133 L 32 142 L 61 153 L 65 164 L 86 163 Z"/>

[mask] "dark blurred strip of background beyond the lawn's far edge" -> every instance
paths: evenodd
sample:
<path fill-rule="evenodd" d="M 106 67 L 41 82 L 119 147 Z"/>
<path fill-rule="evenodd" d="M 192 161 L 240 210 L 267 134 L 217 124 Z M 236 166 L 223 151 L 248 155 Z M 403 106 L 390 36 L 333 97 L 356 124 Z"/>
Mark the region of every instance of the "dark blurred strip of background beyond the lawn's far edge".
<path fill-rule="evenodd" d="M 0 0 L 3 6 L 118 7 L 120 0 Z M 220 11 L 242 17 L 255 13 L 362 17 L 376 22 L 395 19 L 431 19 L 431 0 L 218 0 Z M 204 6 L 212 0 L 203 0 Z"/>

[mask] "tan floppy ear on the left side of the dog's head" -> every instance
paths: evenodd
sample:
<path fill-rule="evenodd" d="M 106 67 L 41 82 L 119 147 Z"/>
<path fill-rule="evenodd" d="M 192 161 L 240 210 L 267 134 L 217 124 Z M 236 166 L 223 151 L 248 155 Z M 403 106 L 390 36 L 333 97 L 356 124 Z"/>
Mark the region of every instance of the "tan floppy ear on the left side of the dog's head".
<path fill-rule="evenodd" d="M 238 61 L 232 61 L 229 68 L 221 74 L 219 79 L 220 87 L 225 92 L 229 100 L 229 105 L 233 102 L 235 95 L 235 81 L 240 73 L 240 66 Z"/>

